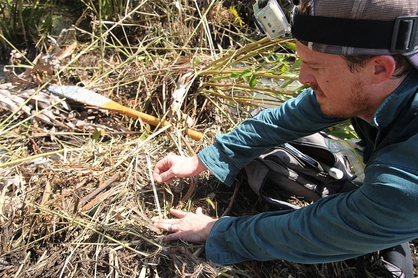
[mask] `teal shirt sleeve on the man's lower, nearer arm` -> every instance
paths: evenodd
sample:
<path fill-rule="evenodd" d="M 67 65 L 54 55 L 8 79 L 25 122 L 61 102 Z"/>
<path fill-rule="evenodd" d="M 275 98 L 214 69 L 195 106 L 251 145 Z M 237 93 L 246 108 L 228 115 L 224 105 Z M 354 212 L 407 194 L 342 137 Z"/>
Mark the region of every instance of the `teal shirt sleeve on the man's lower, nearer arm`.
<path fill-rule="evenodd" d="M 389 163 L 374 159 L 368 164 L 358 190 L 298 210 L 219 219 L 206 242 L 207 258 L 220 264 L 249 259 L 322 263 L 416 238 L 418 161 L 416 154 L 403 152 L 408 144 L 385 151 Z"/>

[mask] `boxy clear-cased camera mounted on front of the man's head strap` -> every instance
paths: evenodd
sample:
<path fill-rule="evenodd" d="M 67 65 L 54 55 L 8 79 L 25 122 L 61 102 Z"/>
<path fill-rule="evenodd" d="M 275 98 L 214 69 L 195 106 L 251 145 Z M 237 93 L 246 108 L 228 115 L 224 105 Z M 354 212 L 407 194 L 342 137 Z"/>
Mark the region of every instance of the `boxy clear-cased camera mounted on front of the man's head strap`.
<path fill-rule="evenodd" d="M 253 20 L 261 33 L 270 39 L 291 34 L 291 27 L 276 0 L 260 0 L 252 6 Z"/>

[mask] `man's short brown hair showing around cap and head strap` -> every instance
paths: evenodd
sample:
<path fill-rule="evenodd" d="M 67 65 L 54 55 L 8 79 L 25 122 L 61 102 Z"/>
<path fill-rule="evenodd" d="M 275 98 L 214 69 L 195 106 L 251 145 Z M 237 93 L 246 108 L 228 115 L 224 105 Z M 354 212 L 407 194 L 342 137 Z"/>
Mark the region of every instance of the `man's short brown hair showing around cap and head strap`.
<path fill-rule="evenodd" d="M 301 15 L 310 15 L 311 14 L 311 0 L 301 0 L 299 3 L 299 14 Z M 340 55 L 343 57 L 350 68 L 351 72 L 358 71 L 361 67 L 364 67 L 367 61 L 376 55 Z M 405 56 L 401 54 L 393 54 L 393 59 L 395 59 L 396 66 L 393 72 L 393 77 L 401 78 L 407 75 L 410 71 L 414 70 L 414 67 L 406 59 Z"/>

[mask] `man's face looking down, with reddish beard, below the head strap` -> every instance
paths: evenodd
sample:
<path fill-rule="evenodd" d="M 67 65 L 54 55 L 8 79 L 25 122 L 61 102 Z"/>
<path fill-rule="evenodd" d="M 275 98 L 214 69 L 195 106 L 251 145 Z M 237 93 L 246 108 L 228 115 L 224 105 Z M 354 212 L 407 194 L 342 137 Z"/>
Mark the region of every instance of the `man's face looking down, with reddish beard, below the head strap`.
<path fill-rule="evenodd" d="M 372 103 L 363 68 L 351 72 L 344 58 L 310 50 L 296 43 L 302 59 L 299 81 L 309 84 L 317 94 L 321 110 L 328 116 L 352 117 L 370 114 Z"/>

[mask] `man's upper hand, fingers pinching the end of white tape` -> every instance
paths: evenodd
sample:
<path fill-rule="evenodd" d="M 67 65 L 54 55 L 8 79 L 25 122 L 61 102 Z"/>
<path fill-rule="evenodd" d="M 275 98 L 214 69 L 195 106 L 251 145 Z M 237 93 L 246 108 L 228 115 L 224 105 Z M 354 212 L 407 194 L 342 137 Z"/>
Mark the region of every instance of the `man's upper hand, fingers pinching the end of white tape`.
<path fill-rule="evenodd" d="M 197 156 L 181 157 L 168 155 L 155 165 L 153 178 L 158 183 L 171 183 L 174 177 L 196 176 L 205 170 L 207 170 L 206 166 Z"/>

